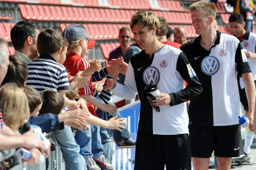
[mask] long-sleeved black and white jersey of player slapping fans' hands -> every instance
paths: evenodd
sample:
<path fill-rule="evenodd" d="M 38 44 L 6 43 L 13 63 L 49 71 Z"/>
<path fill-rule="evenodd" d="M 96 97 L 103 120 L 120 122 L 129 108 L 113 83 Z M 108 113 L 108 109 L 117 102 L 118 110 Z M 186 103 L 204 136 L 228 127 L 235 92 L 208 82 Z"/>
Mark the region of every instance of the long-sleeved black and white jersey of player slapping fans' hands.
<path fill-rule="evenodd" d="M 185 89 L 183 79 L 188 82 Z M 160 107 L 160 112 L 153 110 L 144 94 L 148 85 L 144 81 L 158 82 L 158 90 L 171 96 L 170 105 Z M 202 86 L 187 56 L 179 49 L 165 45 L 151 59 L 145 50 L 133 55 L 124 85 L 117 83 L 111 91 L 128 100 L 133 99 L 138 92 L 141 102 L 138 134 L 177 135 L 188 134 L 185 101 L 200 94 Z"/>

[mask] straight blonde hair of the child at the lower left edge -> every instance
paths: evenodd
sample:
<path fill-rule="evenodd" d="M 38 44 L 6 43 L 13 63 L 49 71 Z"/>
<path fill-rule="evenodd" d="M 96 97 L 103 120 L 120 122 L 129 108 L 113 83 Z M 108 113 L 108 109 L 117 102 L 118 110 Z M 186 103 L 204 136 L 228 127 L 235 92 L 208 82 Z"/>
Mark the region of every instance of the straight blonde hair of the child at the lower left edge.
<path fill-rule="evenodd" d="M 7 83 L 0 88 L 0 107 L 4 123 L 13 131 L 29 119 L 28 98 L 14 83 Z"/>

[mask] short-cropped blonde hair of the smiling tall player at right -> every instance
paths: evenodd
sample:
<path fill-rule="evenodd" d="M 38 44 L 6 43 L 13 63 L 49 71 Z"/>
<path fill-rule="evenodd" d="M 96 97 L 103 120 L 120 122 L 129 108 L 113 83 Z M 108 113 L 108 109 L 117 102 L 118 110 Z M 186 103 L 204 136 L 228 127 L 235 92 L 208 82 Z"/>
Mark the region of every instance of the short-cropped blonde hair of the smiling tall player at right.
<path fill-rule="evenodd" d="M 205 17 L 216 18 L 216 7 L 209 1 L 197 1 L 189 5 L 188 10 L 190 12 L 202 10 Z"/>

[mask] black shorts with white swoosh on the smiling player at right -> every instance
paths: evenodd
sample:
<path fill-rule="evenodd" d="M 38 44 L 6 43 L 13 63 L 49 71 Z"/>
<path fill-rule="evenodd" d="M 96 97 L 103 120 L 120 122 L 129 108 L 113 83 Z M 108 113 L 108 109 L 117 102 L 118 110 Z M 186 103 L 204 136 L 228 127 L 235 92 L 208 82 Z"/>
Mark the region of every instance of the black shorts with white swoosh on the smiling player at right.
<path fill-rule="evenodd" d="M 239 157 L 244 155 L 241 126 L 188 127 L 191 156 L 210 158 L 212 152 L 217 157 Z"/>

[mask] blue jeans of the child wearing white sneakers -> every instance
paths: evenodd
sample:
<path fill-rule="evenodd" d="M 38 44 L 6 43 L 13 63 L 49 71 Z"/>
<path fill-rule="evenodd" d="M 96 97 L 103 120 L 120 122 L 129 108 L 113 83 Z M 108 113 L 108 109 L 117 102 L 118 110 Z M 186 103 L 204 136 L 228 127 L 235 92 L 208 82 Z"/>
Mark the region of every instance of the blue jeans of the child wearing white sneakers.
<path fill-rule="evenodd" d="M 79 153 L 84 158 L 100 157 L 104 154 L 104 148 L 100 138 L 100 127 L 90 124 L 87 125 L 87 129 L 76 130 L 76 143 L 80 146 Z"/>

